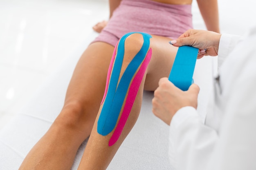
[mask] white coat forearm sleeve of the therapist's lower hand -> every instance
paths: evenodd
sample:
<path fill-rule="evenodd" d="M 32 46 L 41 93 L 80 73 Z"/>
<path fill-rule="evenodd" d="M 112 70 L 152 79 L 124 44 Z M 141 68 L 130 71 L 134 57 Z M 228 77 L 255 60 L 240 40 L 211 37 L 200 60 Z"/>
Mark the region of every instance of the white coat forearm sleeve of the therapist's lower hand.
<path fill-rule="evenodd" d="M 218 134 L 201 121 L 193 107 L 173 116 L 169 132 L 169 159 L 178 170 L 205 170 Z"/>

